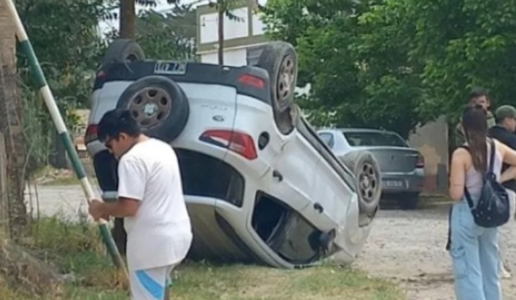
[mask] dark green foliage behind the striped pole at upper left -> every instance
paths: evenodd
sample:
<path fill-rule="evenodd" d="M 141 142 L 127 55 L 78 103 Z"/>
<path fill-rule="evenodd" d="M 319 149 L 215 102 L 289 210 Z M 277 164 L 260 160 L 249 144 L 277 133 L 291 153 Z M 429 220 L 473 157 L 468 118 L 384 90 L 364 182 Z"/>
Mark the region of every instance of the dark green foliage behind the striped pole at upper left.
<path fill-rule="evenodd" d="M 107 0 L 17 0 L 17 9 L 30 42 L 71 129 L 69 112 L 89 103 L 91 87 L 102 55 L 99 20 L 112 7 Z M 24 135 L 29 160 L 27 176 L 47 162 L 55 144 L 54 124 L 29 73 L 26 57 L 18 52 L 24 100 Z"/>

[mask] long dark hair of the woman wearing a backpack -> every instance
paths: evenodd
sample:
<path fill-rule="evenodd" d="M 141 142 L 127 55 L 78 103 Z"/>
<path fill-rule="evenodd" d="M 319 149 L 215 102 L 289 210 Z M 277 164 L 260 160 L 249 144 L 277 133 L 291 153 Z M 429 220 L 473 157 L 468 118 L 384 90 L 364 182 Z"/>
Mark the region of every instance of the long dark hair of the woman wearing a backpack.
<path fill-rule="evenodd" d="M 466 107 L 462 114 L 462 128 L 466 137 L 475 170 L 487 169 L 487 118 L 480 105 Z"/>

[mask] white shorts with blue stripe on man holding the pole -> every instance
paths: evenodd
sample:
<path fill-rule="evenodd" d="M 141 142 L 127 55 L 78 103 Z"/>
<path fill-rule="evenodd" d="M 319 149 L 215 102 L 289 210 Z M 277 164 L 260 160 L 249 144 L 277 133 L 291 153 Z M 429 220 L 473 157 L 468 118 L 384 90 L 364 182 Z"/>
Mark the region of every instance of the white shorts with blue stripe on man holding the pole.
<path fill-rule="evenodd" d="M 176 265 L 155 267 L 146 270 L 130 270 L 129 284 L 132 300 L 164 300 L 170 273 Z"/>

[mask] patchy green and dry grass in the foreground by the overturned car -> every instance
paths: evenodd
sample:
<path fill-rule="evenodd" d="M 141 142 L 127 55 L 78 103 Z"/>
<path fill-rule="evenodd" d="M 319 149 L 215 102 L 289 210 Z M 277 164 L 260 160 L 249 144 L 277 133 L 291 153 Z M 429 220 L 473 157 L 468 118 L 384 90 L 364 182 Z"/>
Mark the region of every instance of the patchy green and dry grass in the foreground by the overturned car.
<path fill-rule="evenodd" d="M 26 246 L 58 271 L 73 274 L 65 299 L 127 299 L 127 281 L 111 267 L 95 227 L 44 218 L 31 228 Z M 390 281 L 370 278 L 349 268 L 322 265 L 281 270 L 255 265 L 184 262 L 173 274 L 173 299 L 178 300 L 399 300 L 404 296 Z M 29 300 L 34 295 L 6 289 L 0 278 L 0 299 Z"/>

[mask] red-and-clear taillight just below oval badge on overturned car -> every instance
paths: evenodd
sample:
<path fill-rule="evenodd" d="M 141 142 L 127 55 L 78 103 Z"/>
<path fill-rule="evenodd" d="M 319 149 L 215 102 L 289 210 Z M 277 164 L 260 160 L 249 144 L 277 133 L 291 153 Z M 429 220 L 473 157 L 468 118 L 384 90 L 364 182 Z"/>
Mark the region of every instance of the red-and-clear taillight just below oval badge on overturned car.
<path fill-rule="evenodd" d="M 228 148 L 248 160 L 257 157 L 253 138 L 245 133 L 232 130 L 207 130 L 199 138 L 206 143 Z"/>

